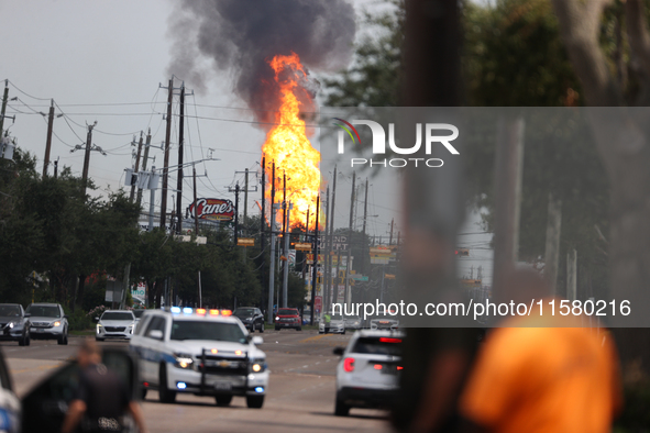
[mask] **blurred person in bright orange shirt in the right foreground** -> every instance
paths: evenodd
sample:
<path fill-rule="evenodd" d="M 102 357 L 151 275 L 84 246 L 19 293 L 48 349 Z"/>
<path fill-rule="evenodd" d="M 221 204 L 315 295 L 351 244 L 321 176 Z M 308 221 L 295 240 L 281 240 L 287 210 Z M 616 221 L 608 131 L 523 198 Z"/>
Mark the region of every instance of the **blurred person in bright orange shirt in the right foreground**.
<path fill-rule="evenodd" d="M 502 295 L 500 302 L 552 299 L 532 270 L 510 273 Z M 488 334 L 459 403 L 466 432 L 610 431 L 623 403 L 610 337 L 549 313 L 506 319 Z"/>

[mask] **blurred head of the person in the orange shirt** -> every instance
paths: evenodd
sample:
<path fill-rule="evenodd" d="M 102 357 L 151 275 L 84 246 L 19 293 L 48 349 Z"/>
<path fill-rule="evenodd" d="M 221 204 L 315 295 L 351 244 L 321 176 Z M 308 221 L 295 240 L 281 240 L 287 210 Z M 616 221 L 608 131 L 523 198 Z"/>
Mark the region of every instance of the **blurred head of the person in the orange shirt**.
<path fill-rule="evenodd" d="M 551 296 L 551 288 L 542 276 L 532 269 L 511 269 L 504 275 L 504 284 L 495 293 L 496 302 L 528 303 L 532 299 Z"/>

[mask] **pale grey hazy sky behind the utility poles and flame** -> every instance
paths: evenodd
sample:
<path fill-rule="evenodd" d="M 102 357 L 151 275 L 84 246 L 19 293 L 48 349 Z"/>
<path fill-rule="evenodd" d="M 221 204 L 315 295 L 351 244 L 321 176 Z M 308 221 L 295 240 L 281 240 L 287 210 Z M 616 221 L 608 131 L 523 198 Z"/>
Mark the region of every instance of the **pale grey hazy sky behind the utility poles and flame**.
<path fill-rule="evenodd" d="M 361 7 L 374 7 L 373 0 L 353 2 Z M 49 100 L 56 102 L 55 113 L 65 114 L 54 120 L 54 137 L 51 160 L 59 159 L 59 169 L 69 166 L 80 176 L 84 152 L 70 153 L 74 146 L 86 141 L 86 124 L 97 121 L 92 142 L 107 156 L 92 152 L 89 176 L 99 187 L 98 193 L 123 186 L 124 168 L 131 167 L 134 158 L 131 146 L 134 135 L 147 129 L 152 143 L 161 145 L 165 138 L 163 113 L 170 62 L 172 38 L 168 34 L 169 15 L 174 0 L 21 0 L 0 2 L 0 79 L 9 79 L 10 101 L 7 115 L 15 115 L 12 124 L 4 121 L 10 135 L 18 145 L 37 157 L 37 170 L 43 169 L 46 140 L 46 116 Z M 178 77 L 176 86 L 186 77 Z M 186 84 L 191 90 L 191 82 Z M 207 91 L 186 98 L 185 162 L 212 156 L 220 160 L 197 166 L 197 173 L 207 177 L 198 179 L 198 196 L 230 198 L 228 186 L 236 180 L 243 184 L 243 171 L 258 170 L 261 146 L 265 133 L 254 126 L 251 110 L 232 91 L 231 77 L 214 73 Z M 178 104 L 175 104 L 178 110 Z M 177 162 L 177 116 L 174 116 L 170 165 Z M 318 148 L 318 143 L 313 143 Z M 152 147 L 148 165 L 163 166 L 163 152 Z M 191 174 L 185 170 L 184 208 L 190 202 Z M 53 174 L 53 166 L 49 166 Z M 324 178 L 329 178 L 324 174 Z M 254 185 L 251 176 L 251 185 Z M 381 181 L 371 181 L 368 232 L 387 235 L 390 220 L 399 220 L 399 189 L 396 182 L 389 187 Z M 338 193 L 337 222 L 349 219 L 350 180 L 341 181 Z M 381 187 L 379 187 L 381 186 Z M 176 188 L 175 175 L 169 187 Z M 379 187 L 379 188 L 378 188 Z M 168 209 L 172 209 L 172 195 Z M 252 198 L 250 212 L 256 212 Z M 143 195 L 148 207 L 148 193 Z M 341 203 L 341 204 L 339 204 Z M 159 206 L 159 193 L 156 195 Z M 145 208 L 146 209 L 146 208 Z M 360 211 L 361 212 L 361 211 Z M 359 214 L 361 215 L 361 213 Z M 341 225 L 344 225 L 341 224 Z M 396 231 L 398 227 L 396 229 Z M 473 222 L 469 231 L 477 231 Z M 484 266 L 485 267 L 485 266 Z"/>

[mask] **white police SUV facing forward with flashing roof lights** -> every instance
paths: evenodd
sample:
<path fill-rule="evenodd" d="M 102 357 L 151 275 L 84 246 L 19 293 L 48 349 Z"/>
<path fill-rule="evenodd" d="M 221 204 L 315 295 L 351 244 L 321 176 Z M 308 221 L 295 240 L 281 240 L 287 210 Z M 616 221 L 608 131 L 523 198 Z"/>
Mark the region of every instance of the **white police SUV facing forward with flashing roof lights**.
<path fill-rule="evenodd" d="M 268 386 L 266 355 L 230 310 L 172 307 L 147 310 L 131 338 L 140 357 L 143 398 L 156 389 L 162 402 L 177 393 L 213 396 L 228 406 L 233 396 L 260 409 Z"/>

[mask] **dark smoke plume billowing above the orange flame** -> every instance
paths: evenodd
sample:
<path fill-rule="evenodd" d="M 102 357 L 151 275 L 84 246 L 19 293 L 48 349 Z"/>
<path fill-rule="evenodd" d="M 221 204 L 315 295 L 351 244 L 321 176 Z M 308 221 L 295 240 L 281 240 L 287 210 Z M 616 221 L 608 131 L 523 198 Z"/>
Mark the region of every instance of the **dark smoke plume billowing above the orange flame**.
<path fill-rule="evenodd" d="M 355 33 L 344 0 L 179 0 L 170 24 L 169 71 L 198 91 L 232 74 L 235 92 L 261 121 L 278 103 L 268 59 L 294 52 L 310 69 L 334 71 L 350 60 Z"/>

